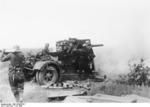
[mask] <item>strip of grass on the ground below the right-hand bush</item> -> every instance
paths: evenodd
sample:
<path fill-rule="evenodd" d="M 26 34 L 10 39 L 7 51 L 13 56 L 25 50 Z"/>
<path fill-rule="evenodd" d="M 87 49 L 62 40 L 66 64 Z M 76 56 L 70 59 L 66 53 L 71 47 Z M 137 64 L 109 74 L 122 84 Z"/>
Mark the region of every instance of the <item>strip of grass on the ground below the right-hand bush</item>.
<path fill-rule="evenodd" d="M 122 96 L 136 94 L 143 97 L 150 98 L 150 87 L 145 86 L 133 86 L 127 84 L 121 84 L 116 81 L 110 80 L 103 83 L 91 83 L 91 90 L 88 92 L 89 95 L 95 95 L 97 93 Z"/>

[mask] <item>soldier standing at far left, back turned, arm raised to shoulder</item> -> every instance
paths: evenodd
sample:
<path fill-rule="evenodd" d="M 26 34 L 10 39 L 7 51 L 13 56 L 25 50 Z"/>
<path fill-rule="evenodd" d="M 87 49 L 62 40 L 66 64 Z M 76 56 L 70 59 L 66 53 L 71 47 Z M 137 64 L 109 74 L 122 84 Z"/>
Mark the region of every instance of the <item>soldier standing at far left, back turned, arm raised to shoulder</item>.
<path fill-rule="evenodd" d="M 21 53 L 19 46 L 15 46 L 12 50 L 7 52 L 3 51 L 1 61 L 10 61 L 9 65 L 9 83 L 11 90 L 17 102 L 23 101 L 23 90 L 24 90 L 24 55 Z"/>

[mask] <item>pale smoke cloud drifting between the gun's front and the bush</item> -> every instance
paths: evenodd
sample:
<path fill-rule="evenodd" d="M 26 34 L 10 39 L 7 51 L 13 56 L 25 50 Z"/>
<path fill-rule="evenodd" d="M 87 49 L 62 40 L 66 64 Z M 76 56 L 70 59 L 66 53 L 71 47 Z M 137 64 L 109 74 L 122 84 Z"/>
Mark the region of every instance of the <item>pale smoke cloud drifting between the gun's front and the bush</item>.
<path fill-rule="evenodd" d="M 141 27 L 140 30 L 143 30 Z M 130 72 L 129 61 L 137 62 L 144 58 L 145 65 L 150 66 L 150 39 L 147 35 L 127 35 L 117 45 L 95 48 L 95 65 L 100 73 L 109 76 Z M 115 38 L 114 38 L 115 39 Z"/>

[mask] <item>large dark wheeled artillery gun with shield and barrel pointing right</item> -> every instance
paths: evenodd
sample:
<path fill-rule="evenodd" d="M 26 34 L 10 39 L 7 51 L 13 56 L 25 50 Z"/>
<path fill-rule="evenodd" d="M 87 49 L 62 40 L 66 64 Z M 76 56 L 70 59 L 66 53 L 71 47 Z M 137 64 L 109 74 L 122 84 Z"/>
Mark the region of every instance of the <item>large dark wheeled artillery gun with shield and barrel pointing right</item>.
<path fill-rule="evenodd" d="M 56 42 L 56 52 L 49 53 L 54 59 L 38 60 L 32 67 L 36 81 L 43 85 L 93 77 L 95 55 L 92 48 L 99 46 L 103 44 L 92 45 L 90 39 L 69 38 Z M 87 71 L 91 74 L 87 75 Z"/>

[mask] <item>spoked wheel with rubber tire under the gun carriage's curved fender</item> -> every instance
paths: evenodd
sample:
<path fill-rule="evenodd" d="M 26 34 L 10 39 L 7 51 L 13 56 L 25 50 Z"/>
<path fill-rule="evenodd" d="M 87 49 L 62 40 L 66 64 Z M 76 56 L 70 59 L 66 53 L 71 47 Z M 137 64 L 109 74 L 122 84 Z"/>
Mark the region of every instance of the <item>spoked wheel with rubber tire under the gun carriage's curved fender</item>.
<path fill-rule="evenodd" d="M 55 83 L 58 80 L 58 71 L 55 66 L 48 65 L 45 66 L 43 71 L 39 72 L 38 83 L 40 85 L 47 85 L 52 82 Z"/>

